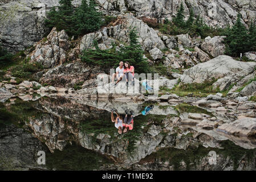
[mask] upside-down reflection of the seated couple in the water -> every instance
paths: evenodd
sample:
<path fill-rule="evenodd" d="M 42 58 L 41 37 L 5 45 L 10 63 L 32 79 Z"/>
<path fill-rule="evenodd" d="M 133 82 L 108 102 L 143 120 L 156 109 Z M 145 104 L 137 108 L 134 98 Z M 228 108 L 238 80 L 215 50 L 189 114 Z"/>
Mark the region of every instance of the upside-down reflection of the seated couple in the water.
<path fill-rule="evenodd" d="M 116 113 L 116 118 L 113 112 Z M 118 133 L 127 133 L 129 130 L 133 129 L 133 112 L 131 111 L 128 115 L 128 111 L 125 110 L 125 117 L 120 115 L 116 109 L 111 109 L 111 121 L 115 122 L 115 127 L 118 129 Z"/>

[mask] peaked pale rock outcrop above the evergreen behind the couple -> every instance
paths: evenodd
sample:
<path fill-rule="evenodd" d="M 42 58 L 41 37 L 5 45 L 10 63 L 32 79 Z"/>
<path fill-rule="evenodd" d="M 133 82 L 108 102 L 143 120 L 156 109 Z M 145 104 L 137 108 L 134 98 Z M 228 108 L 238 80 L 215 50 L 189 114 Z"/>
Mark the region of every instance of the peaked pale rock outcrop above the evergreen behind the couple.
<path fill-rule="evenodd" d="M 80 44 L 80 51 L 94 47 L 94 39 L 99 43 L 101 49 L 109 48 L 111 42 L 115 42 L 115 40 L 129 43 L 130 28 L 136 28 L 137 34 L 140 36 L 138 42 L 146 51 L 155 47 L 166 48 L 156 30 L 149 27 L 143 20 L 135 18 L 132 13 L 128 13 L 119 15 L 112 26 L 84 35 Z"/>

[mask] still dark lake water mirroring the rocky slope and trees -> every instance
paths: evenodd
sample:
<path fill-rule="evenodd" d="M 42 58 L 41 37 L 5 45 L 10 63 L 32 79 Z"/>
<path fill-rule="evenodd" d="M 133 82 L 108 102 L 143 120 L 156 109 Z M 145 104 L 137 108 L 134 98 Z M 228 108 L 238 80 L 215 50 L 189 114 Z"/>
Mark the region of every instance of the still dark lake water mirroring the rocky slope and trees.
<path fill-rule="evenodd" d="M 112 109 L 123 117 L 132 111 L 133 129 L 117 133 Z M 2 170 L 255 169 L 255 139 L 181 126 L 179 119 L 188 113 L 214 116 L 188 104 L 10 98 L 0 103 L 0 113 Z M 36 163 L 39 150 L 46 152 L 46 165 Z M 217 154 L 215 165 L 209 164 L 210 151 Z"/>

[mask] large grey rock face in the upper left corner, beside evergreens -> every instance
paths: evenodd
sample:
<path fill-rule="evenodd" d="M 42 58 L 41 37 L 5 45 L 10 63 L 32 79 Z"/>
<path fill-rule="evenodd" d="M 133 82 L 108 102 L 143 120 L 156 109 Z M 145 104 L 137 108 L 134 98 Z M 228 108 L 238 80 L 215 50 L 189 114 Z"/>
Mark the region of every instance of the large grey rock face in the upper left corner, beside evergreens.
<path fill-rule="evenodd" d="M 81 0 L 72 1 L 76 7 Z M 58 0 L 20 0 L 0 2 L 0 44 L 9 51 L 21 51 L 42 39 L 50 30 L 44 19 Z"/>

